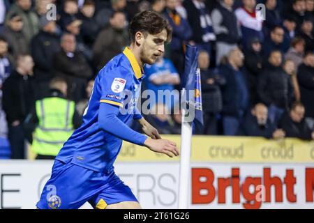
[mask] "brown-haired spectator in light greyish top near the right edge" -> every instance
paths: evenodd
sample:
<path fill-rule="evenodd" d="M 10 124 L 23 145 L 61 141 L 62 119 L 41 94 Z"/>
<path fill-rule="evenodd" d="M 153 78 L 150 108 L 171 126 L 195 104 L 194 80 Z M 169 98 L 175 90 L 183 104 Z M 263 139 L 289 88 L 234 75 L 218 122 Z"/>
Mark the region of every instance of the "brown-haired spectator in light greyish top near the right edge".
<path fill-rule="evenodd" d="M 291 47 L 285 54 L 285 59 L 292 60 L 297 68 L 303 60 L 305 41 L 302 38 L 296 37 L 291 42 Z"/>

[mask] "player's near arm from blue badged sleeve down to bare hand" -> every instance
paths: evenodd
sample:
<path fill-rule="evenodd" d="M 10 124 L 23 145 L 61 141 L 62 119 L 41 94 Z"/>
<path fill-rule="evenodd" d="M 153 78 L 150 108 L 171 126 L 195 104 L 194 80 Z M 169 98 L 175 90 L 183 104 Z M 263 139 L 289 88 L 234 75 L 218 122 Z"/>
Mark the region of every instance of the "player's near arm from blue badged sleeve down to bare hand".
<path fill-rule="evenodd" d="M 110 132 L 119 139 L 129 141 L 133 144 L 146 146 L 151 151 L 157 153 L 165 153 L 170 157 L 179 155 L 177 146 L 169 140 L 165 139 L 148 139 L 144 134 L 140 134 L 132 130 L 126 123 L 121 121 L 117 116 L 120 107 L 123 107 L 124 89 L 129 89 L 132 83 L 128 78 L 127 70 L 119 70 L 120 72 L 105 73 L 100 77 L 98 87 L 101 91 L 100 105 L 98 111 L 98 125 L 106 132 Z M 101 71 L 100 71 L 101 72 Z M 121 84 L 120 84 L 121 83 Z M 116 86 L 119 85 L 119 88 Z"/>

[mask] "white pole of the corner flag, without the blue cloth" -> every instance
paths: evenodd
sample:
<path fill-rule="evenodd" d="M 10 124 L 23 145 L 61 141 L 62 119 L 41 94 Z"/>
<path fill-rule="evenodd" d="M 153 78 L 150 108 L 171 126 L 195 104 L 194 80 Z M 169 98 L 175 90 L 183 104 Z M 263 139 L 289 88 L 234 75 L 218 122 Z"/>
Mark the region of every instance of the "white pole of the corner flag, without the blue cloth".
<path fill-rule="evenodd" d="M 183 89 L 183 95 L 186 89 Z M 190 148 L 192 144 L 192 123 L 186 121 L 186 109 L 182 109 L 181 151 L 179 174 L 179 209 L 188 208 L 190 182 Z"/>

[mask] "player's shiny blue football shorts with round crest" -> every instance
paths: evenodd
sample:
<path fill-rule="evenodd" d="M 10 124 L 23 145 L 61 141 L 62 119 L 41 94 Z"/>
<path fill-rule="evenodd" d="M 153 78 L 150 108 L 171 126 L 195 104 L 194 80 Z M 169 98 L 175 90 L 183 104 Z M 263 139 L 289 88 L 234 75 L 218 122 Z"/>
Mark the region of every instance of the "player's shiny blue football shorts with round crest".
<path fill-rule="evenodd" d="M 137 199 L 114 171 L 105 174 L 55 160 L 52 176 L 36 206 L 39 209 L 77 209 L 89 202 L 93 208 L 105 209 L 107 205 L 122 201 Z"/>

